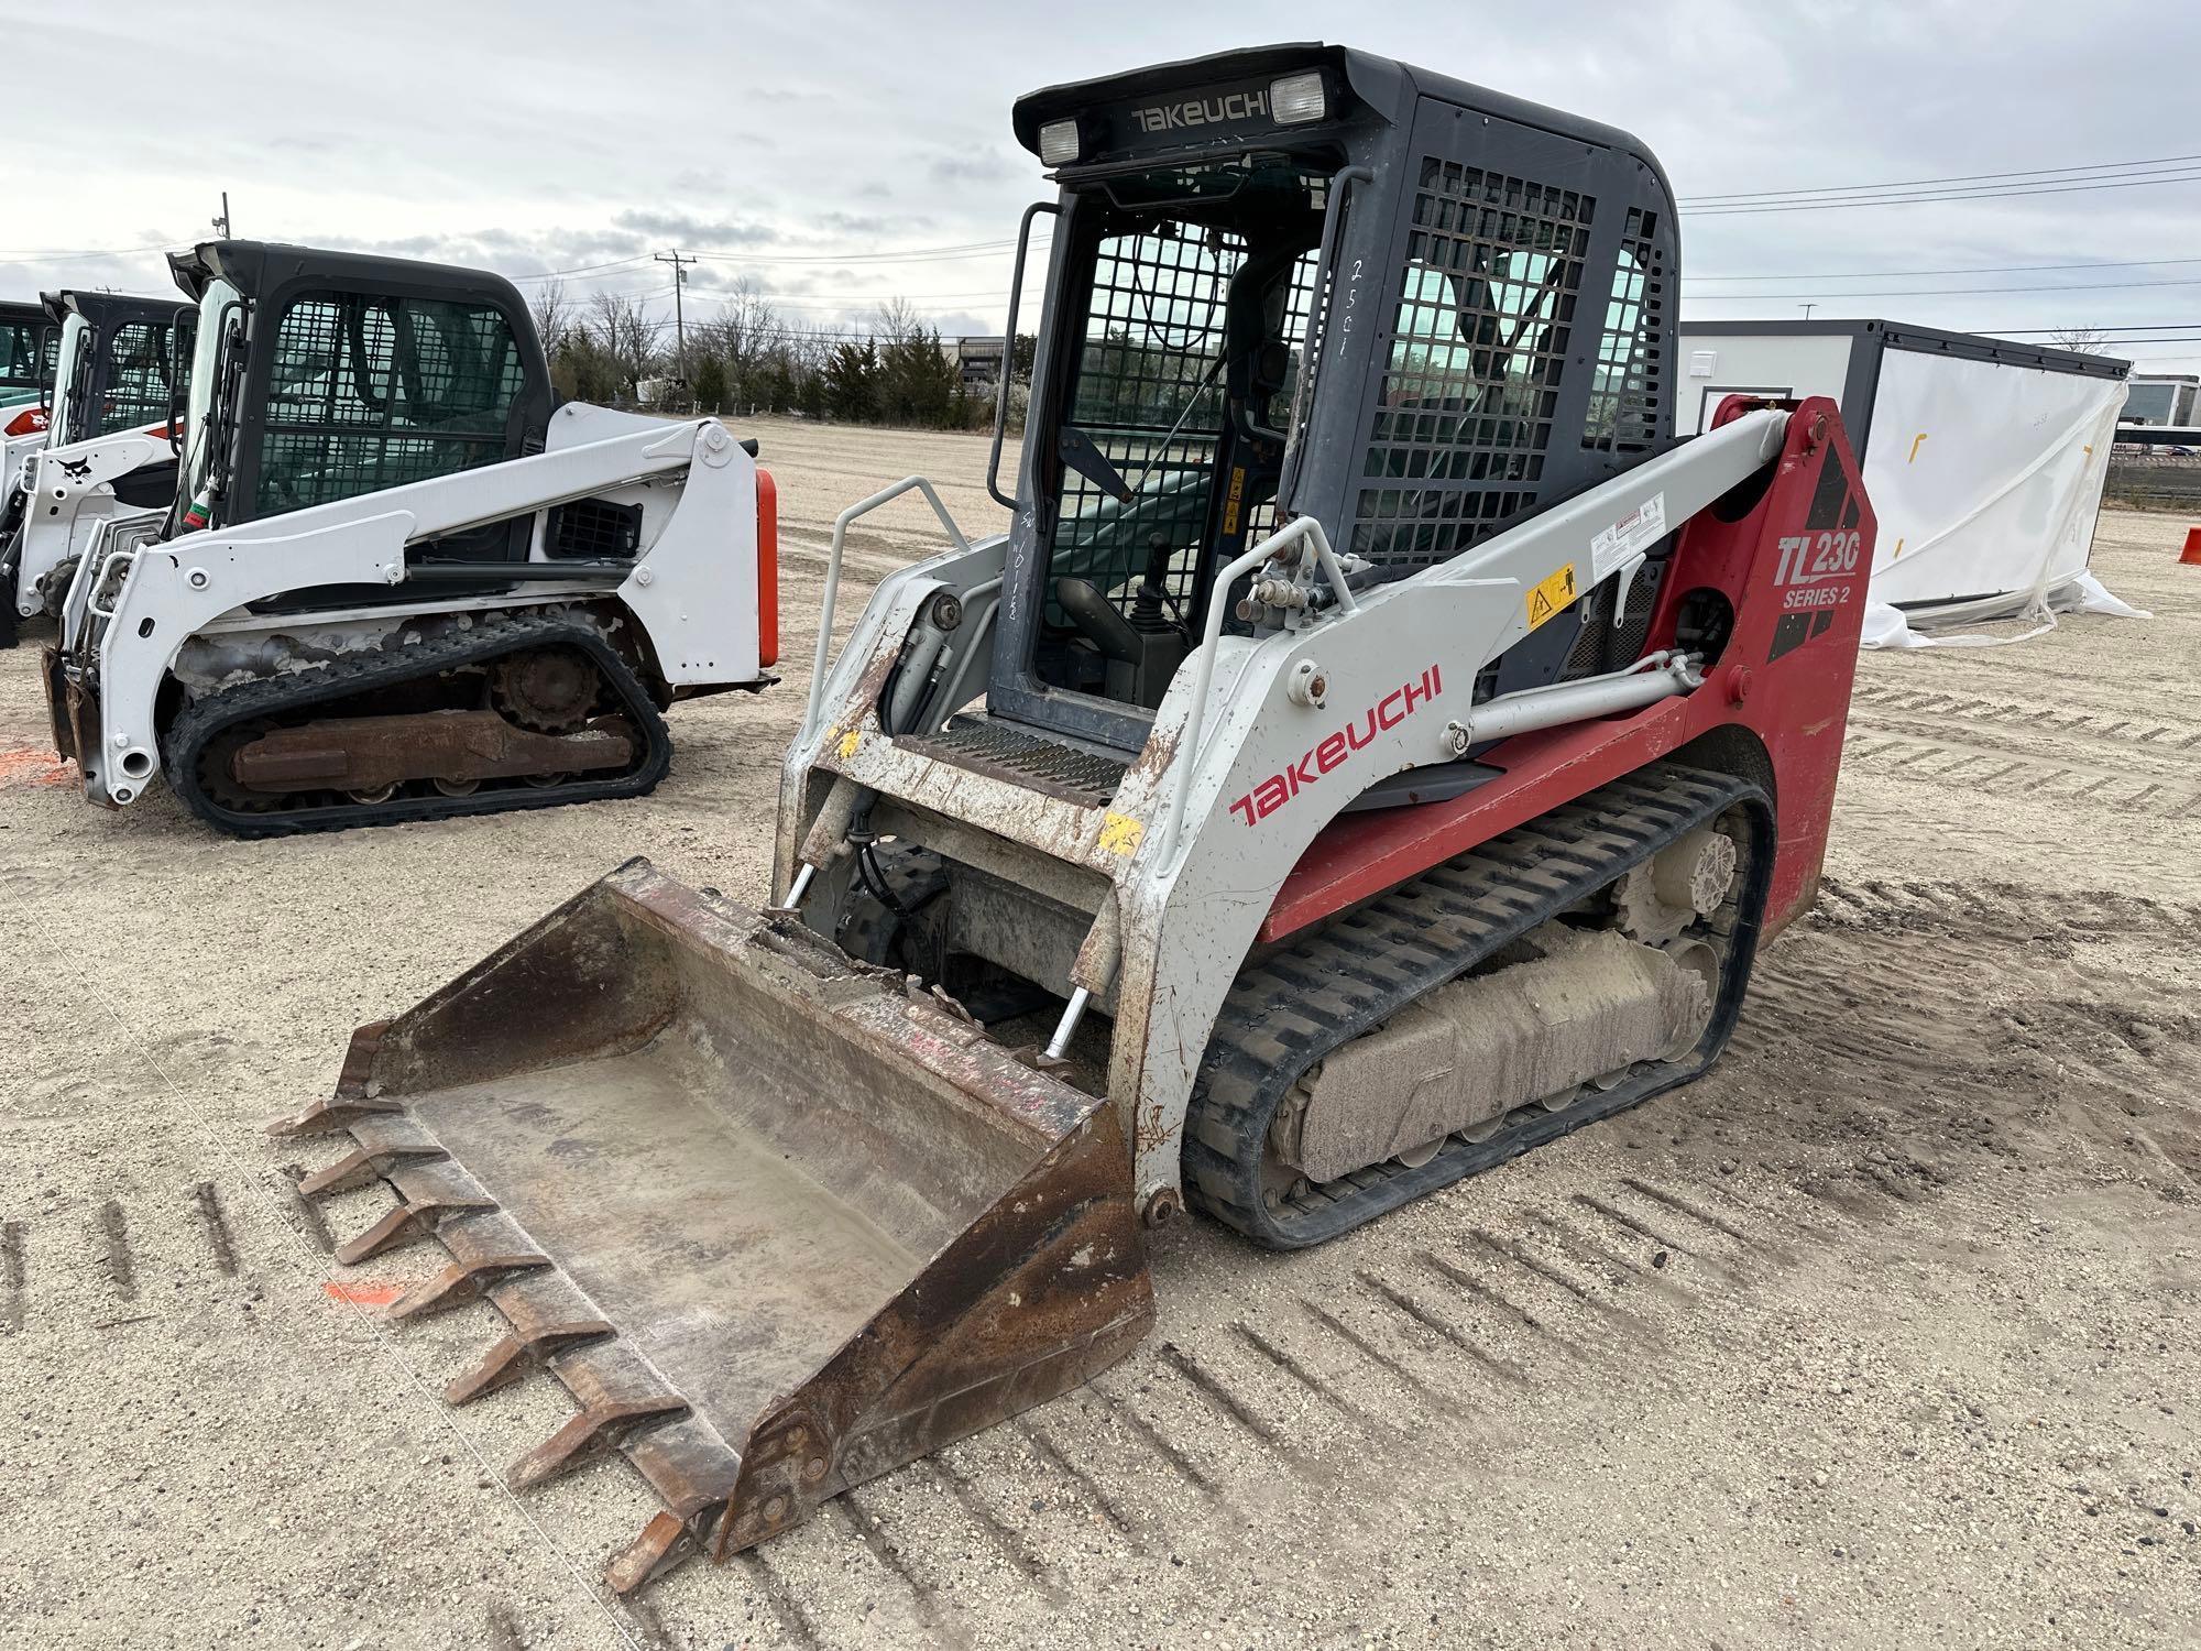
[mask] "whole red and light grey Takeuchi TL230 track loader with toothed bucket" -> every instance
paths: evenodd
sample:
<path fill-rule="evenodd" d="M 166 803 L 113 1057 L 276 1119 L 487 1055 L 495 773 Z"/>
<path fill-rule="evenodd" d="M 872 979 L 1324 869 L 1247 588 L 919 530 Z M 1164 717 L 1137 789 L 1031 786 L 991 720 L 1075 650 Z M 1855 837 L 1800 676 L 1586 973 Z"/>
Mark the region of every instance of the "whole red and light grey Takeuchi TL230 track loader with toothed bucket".
<path fill-rule="evenodd" d="M 1316 1244 L 1688 1083 L 1818 883 L 1873 515 L 1829 401 L 1671 438 L 1635 139 L 1329 46 L 1017 136 L 1010 528 L 821 643 L 775 903 L 629 861 L 275 1125 L 396 1191 L 346 1259 L 447 1253 L 398 1319 L 500 1310 L 453 1402 L 570 1389 L 517 1484 L 656 1488 L 621 1589 L 1123 1356 L 1180 1211 Z"/>

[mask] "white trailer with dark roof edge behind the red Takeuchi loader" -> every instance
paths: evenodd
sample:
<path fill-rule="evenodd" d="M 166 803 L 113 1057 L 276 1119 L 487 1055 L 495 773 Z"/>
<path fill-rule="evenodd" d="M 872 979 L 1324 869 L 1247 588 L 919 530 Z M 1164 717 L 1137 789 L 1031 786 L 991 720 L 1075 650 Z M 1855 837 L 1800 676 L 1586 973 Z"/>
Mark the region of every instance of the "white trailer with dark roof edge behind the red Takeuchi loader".
<path fill-rule="evenodd" d="M 2087 570 L 2131 361 L 1895 321 L 1682 321 L 1675 431 L 1721 396 L 1836 396 L 1880 513 L 1866 647 L 2133 610 Z"/>

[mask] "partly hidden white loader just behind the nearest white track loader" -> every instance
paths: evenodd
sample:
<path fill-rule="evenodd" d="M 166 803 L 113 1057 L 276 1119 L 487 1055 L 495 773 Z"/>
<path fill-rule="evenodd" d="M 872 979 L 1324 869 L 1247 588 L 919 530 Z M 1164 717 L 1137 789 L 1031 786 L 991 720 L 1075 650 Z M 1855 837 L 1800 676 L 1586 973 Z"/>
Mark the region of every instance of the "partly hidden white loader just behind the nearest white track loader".
<path fill-rule="evenodd" d="M 0 645 L 18 621 L 62 612 L 103 524 L 158 520 L 176 498 L 191 306 L 64 291 L 44 313 L 57 339 L 51 416 L 0 469 Z"/>

